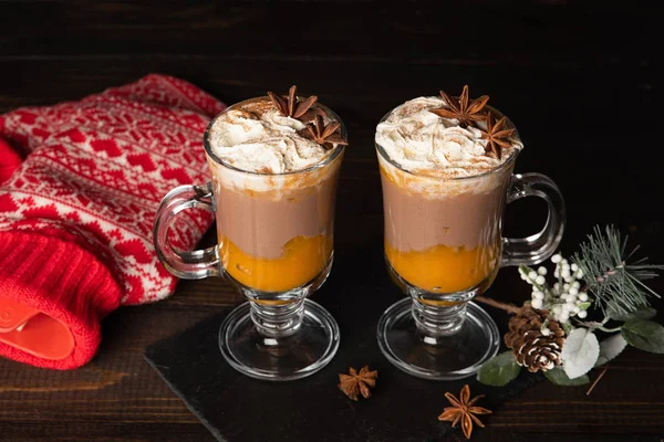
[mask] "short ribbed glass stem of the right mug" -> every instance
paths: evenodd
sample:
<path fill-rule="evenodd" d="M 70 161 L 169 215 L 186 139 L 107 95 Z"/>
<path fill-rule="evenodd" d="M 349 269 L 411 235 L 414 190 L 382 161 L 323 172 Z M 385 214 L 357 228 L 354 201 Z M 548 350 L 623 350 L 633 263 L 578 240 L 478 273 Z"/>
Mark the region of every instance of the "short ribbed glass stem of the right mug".
<path fill-rule="evenodd" d="M 433 302 L 413 299 L 413 317 L 425 344 L 436 344 L 436 339 L 457 333 L 466 318 L 466 302 L 449 305 L 433 305 Z M 439 302 L 438 302 L 439 303 Z"/>

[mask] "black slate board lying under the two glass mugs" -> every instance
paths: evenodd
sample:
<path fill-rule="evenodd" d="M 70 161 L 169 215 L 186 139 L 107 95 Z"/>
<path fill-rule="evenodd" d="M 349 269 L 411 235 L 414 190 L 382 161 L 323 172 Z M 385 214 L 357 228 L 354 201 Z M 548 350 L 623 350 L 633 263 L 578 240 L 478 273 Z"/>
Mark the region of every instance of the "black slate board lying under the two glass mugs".
<path fill-rule="evenodd" d="M 469 383 L 473 396 L 487 396 L 479 404 L 495 410 L 541 379 L 521 373 L 508 387 L 494 388 L 480 385 L 473 377 L 443 382 L 400 371 L 383 357 L 375 330 L 383 311 L 403 295 L 386 274 L 376 274 L 375 285 L 344 287 L 335 277 L 336 271 L 333 270 L 312 299 L 339 322 L 339 352 L 328 367 L 309 378 L 260 381 L 238 373 L 226 364 L 217 346 L 217 335 L 230 309 L 149 346 L 145 357 L 215 438 L 228 442 L 439 441 L 452 431 L 437 420 L 448 406 L 445 391 L 457 396 Z M 507 315 L 488 311 L 504 333 Z M 336 388 L 338 375 L 350 366 L 364 365 L 378 370 L 378 382 L 372 398 L 353 402 Z M 481 439 L 481 429 L 475 430 L 474 440 Z"/>

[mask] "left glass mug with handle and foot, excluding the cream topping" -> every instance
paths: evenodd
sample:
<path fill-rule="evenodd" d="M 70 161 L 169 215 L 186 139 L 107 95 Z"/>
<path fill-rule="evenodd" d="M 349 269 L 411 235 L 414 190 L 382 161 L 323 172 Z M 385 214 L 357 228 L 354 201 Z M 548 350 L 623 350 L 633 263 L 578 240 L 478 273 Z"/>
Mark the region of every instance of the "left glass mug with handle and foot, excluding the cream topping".
<path fill-rule="evenodd" d="M 225 113 L 258 99 L 267 98 L 238 103 Z M 339 116 L 317 106 L 342 124 L 345 137 Z M 157 254 L 175 276 L 224 276 L 248 298 L 219 329 L 219 348 L 234 368 L 258 379 L 303 378 L 323 368 L 339 348 L 336 322 L 307 297 L 325 282 L 332 267 L 334 203 L 344 147 L 300 171 L 245 171 L 212 151 L 214 123 L 204 135 L 211 181 L 180 186 L 164 198 L 154 224 Z M 170 245 L 168 228 L 178 212 L 189 208 L 215 212 L 217 245 L 193 252 Z"/>

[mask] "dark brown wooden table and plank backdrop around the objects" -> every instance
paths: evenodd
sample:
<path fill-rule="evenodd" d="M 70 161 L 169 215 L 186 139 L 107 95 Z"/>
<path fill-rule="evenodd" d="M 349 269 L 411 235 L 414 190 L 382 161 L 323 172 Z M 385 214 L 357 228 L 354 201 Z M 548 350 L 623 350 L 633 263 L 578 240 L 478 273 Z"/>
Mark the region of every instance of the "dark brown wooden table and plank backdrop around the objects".
<path fill-rule="evenodd" d="M 458 3 L 2 1 L 0 112 L 75 99 L 151 72 L 181 76 L 229 104 L 298 84 L 350 130 L 338 254 L 380 256 L 377 120 L 405 99 L 469 84 L 519 127 L 526 150 L 517 170 L 560 185 L 569 211 L 563 252 L 593 224 L 612 222 L 663 263 L 661 84 L 658 51 L 649 44 L 661 29 L 656 13 L 637 2 Z M 519 201 L 507 233 L 531 233 L 543 215 L 537 201 Z M 352 284 L 362 272 L 332 277 Z M 663 280 L 652 286 L 664 293 Z M 502 271 L 494 290 L 515 302 L 528 296 L 516 270 Z M 143 350 L 240 301 L 221 280 L 181 282 L 168 301 L 110 315 L 84 368 L 0 360 L 0 439 L 211 441 Z M 495 410 L 478 439 L 504 440 L 509 430 L 523 441 L 660 441 L 663 361 L 627 349 L 589 397 L 584 387 L 542 382 Z"/>

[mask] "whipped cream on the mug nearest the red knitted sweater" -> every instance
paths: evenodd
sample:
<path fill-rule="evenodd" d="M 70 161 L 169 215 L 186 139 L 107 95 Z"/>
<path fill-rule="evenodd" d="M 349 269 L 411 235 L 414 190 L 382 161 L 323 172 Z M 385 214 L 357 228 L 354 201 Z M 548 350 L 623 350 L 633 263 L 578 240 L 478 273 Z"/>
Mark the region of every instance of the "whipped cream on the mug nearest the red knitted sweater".
<path fill-rule="evenodd" d="M 299 135 L 305 127 L 304 123 L 281 115 L 268 98 L 249 101 L 217 117 L 209 130 L 209 143 L 219 159 L 238 169 L 292 172 L 321 162 L 334 150 L 325 150 Z"/>

